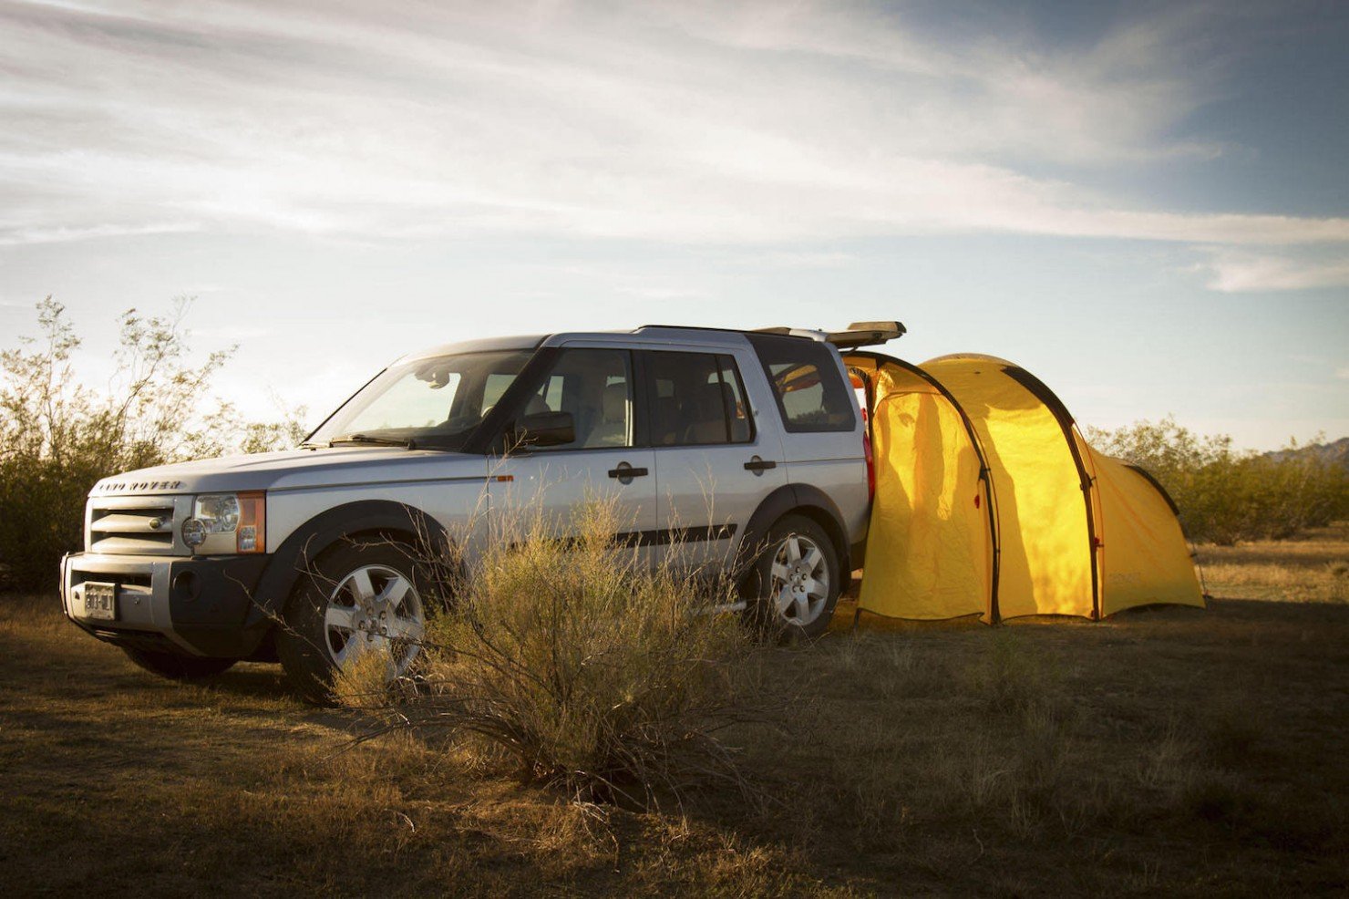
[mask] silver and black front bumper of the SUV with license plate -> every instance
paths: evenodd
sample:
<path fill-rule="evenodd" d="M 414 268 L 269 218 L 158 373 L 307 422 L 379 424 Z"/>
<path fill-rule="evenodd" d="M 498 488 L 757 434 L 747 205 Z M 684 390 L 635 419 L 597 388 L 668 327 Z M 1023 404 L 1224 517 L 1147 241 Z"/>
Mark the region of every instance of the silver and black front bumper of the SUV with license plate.
<path fill-rule="evenodd" d="M 268 555 L 181 559 L 76 552 L 61 560 L 61 605 L 67 618 L 108 643 L 241 659 L 267 633 L 266 620 L 251 613 L 270 560 Z M 86 614 L 90 582 L 116 584 L 112 620 Z"/>

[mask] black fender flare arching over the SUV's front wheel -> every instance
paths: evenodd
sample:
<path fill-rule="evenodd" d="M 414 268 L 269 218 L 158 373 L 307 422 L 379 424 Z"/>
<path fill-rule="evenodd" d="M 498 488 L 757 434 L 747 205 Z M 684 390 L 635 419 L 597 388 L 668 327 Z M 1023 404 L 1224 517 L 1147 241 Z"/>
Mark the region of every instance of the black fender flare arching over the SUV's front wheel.
<path fill-rule="evenodd" d="M 391 499 L 360 499 L 326 509 L 295 528 L 271 553 L 258 579 L 246 630 L 266 630 L 282 613 L 295 582 L 343 537 L 391 533 L 424 541 L 432 557 L 451 559 L 445 526 L 415 506 Z"/>

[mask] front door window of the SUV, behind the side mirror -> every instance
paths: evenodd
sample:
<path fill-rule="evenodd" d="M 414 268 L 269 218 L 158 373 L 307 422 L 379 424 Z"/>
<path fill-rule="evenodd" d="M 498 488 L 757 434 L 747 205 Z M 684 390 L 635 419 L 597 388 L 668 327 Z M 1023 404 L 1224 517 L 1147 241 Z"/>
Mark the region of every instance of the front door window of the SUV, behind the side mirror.
<path fill-rule="evenodd" d="M 633 445 L 633 362 L 626 350 L 564 350 L 523 414 L 568 412 L 576 440 L 546 450 Z"/>

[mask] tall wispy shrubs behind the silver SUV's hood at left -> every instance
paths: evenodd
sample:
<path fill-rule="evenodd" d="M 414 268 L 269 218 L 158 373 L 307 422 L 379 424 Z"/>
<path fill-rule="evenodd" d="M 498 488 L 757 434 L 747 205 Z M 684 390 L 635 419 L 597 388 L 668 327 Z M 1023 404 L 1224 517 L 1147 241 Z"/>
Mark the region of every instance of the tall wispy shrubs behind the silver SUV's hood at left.
<path fill-rule="evenodd" d="M 80 337 L 65 306 L 38 304 L 38 337 L 0 352 L 0 589 L 50 586 L 63 552 L 78 549 L 84 505 L 100 478 L 146 466 L 256 452 L 294 443 L 298 416 L 248 424 L 210 396 L 233 350 L 194 354 L 171 313 L 119 320 L 115 373 L 104 390 L 80 383 Z"/>

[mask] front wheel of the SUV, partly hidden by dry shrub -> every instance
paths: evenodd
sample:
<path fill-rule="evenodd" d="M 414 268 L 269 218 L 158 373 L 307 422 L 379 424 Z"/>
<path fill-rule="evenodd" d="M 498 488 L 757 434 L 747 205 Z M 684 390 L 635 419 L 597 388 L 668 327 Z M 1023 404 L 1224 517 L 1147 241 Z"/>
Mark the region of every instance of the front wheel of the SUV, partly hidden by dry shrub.
<path fill-rule="evenodd" d="M 382 652 L 389 680 L 407 674 L 425 634 L 425 590 L 413 551 L 398 543 L 343 541 L 301 575 L 277 629 L 290 683 L 314 705 L 335 705 L 339 670 Z"/>

